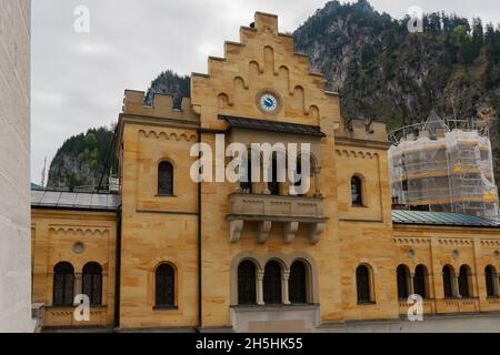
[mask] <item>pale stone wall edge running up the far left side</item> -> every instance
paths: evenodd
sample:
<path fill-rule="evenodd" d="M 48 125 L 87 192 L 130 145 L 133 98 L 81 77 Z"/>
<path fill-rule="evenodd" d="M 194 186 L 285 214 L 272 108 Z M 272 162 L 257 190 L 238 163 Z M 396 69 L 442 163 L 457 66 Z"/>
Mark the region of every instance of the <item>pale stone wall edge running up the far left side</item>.
<path fill-rule="evenodd" d="M 0 0 L 0 332 L 32 332 L 30 0 Z"/>

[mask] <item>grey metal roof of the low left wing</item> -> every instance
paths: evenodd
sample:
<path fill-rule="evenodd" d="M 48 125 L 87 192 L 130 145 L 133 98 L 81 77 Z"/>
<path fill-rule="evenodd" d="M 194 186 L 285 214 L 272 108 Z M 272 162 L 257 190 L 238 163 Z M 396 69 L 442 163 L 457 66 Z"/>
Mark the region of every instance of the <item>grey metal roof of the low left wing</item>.
<path fill-rule="evenodd" d="M 31 191 L 31 206 L 39 209 L 117 211 L 120 203 L 113 194 Z"/>

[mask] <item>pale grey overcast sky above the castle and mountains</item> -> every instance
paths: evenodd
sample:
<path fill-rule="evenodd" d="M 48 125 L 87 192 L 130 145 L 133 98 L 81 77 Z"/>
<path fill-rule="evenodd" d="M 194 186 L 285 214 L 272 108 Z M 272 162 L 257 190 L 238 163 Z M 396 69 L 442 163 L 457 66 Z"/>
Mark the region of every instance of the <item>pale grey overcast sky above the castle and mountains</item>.
<path fill-rule="evenodd" d="M 207 57 L 254 11 L 277 13 L 293 31 L 324 0 L 33 0 L 31 179 L 41 181 L 66 139 L 118 120 L 124 89 L 147 90 L 161 71 L 207 72 Z M 346 2 L 346 1 L 342 1 Z M 372 0 L 402 18 L 411 6 L 500 22 L 500 1 Z M 90 10 L 90 32 L 74 31 L 74 9 Z"/>

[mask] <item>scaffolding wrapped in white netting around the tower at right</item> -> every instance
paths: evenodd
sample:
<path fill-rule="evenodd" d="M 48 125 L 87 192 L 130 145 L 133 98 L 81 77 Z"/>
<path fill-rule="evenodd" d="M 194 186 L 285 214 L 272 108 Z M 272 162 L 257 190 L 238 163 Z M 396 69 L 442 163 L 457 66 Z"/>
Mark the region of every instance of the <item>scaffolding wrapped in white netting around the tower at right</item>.
<path fill-rule="evenodd" d="M 452 129 L 450 128 L 452 126 Z M 499 221 L 487 130 L 431 112 L 390 134 L 389 172 L 397 207 L 458 212 Z"/>

